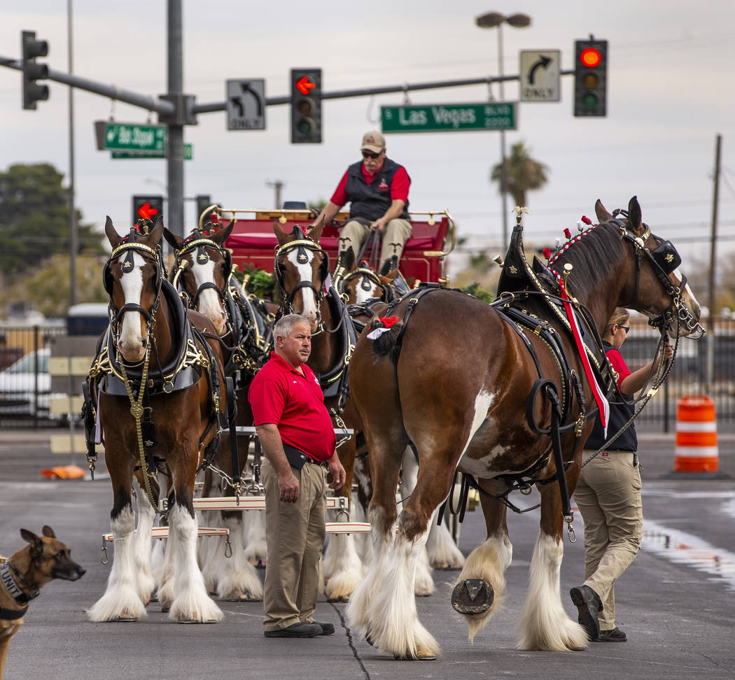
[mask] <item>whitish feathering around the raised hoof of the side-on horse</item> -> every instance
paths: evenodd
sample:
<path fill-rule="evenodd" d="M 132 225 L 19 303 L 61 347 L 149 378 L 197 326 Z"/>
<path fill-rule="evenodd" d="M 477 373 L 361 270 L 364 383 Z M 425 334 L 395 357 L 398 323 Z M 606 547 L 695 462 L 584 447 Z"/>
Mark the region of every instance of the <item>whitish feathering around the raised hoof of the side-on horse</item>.
<path fill-rule="evenodd" d="M 487 625 L 503 601 L 506 570 L 513 556 L 513 547 L 505 533 L 498 533 L 477 546 L 469 557 L 457 583 L 467 579 L 480 579 L 492 586 L 493 600 L 490 607 L 480 614 L 462 614 L 467 621 L 467 635 L 472 642 L 478 631 Z"/>

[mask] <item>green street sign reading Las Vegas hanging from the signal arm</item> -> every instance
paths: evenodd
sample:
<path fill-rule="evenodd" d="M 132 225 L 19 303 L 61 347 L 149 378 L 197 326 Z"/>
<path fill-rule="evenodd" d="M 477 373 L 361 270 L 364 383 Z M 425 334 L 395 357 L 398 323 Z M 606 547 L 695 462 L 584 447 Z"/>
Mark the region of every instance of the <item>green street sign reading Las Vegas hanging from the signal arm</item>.
<path fill-rule="evenodd" d="M 381 106 L 384 132 L 445 132 L 456 130 L 514 130 L 515 103 Z"/>

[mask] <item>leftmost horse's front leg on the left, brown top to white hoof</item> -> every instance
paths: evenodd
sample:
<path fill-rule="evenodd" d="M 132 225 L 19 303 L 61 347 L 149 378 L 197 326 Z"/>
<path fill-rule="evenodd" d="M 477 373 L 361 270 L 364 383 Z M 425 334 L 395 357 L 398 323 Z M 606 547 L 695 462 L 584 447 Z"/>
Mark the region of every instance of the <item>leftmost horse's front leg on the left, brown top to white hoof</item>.
<path fill-rule="evenodd" d="M 104 595 L 87 610 L 90 621 L 137 621 L 146 616 L 135 565 L 135 513 L 132 507 L 133 459 L 120 442 L 108 440 L 105 463 L 112 481 L 110 530 L 114 536 L 112 569 Z"/>

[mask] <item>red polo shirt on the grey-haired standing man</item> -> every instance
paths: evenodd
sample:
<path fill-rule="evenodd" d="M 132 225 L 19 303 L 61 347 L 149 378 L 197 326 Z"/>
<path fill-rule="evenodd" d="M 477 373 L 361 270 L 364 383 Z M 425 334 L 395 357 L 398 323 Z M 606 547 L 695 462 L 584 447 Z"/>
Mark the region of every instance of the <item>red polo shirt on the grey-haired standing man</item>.
<path fill-rule="evenodd" d="M 301 368 L 304 375 L 270 352 L 270 360 L 251 383 L 248 401 L 256 426 L 275 424 L 285 444 L 320 463 L 331 458 L 337 438 L 319 380 L 309 366 Z"/>

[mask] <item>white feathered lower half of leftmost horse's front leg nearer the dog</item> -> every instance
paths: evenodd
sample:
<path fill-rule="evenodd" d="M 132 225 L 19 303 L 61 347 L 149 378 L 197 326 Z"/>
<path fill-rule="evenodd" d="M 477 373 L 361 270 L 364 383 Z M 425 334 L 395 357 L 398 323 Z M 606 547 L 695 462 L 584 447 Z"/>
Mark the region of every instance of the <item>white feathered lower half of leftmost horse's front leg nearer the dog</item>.
<path fill-rule="evenodd" d="M 146 607 L 138 596 L 133 549 L 135 515 L 129 505 L 110 520 L 110 530 L 115 536 L 112 569 L 107 578 L 104 595 L 87 610 L 90 621 L 115 621 L 124 618 L 143 618 Z"/>

